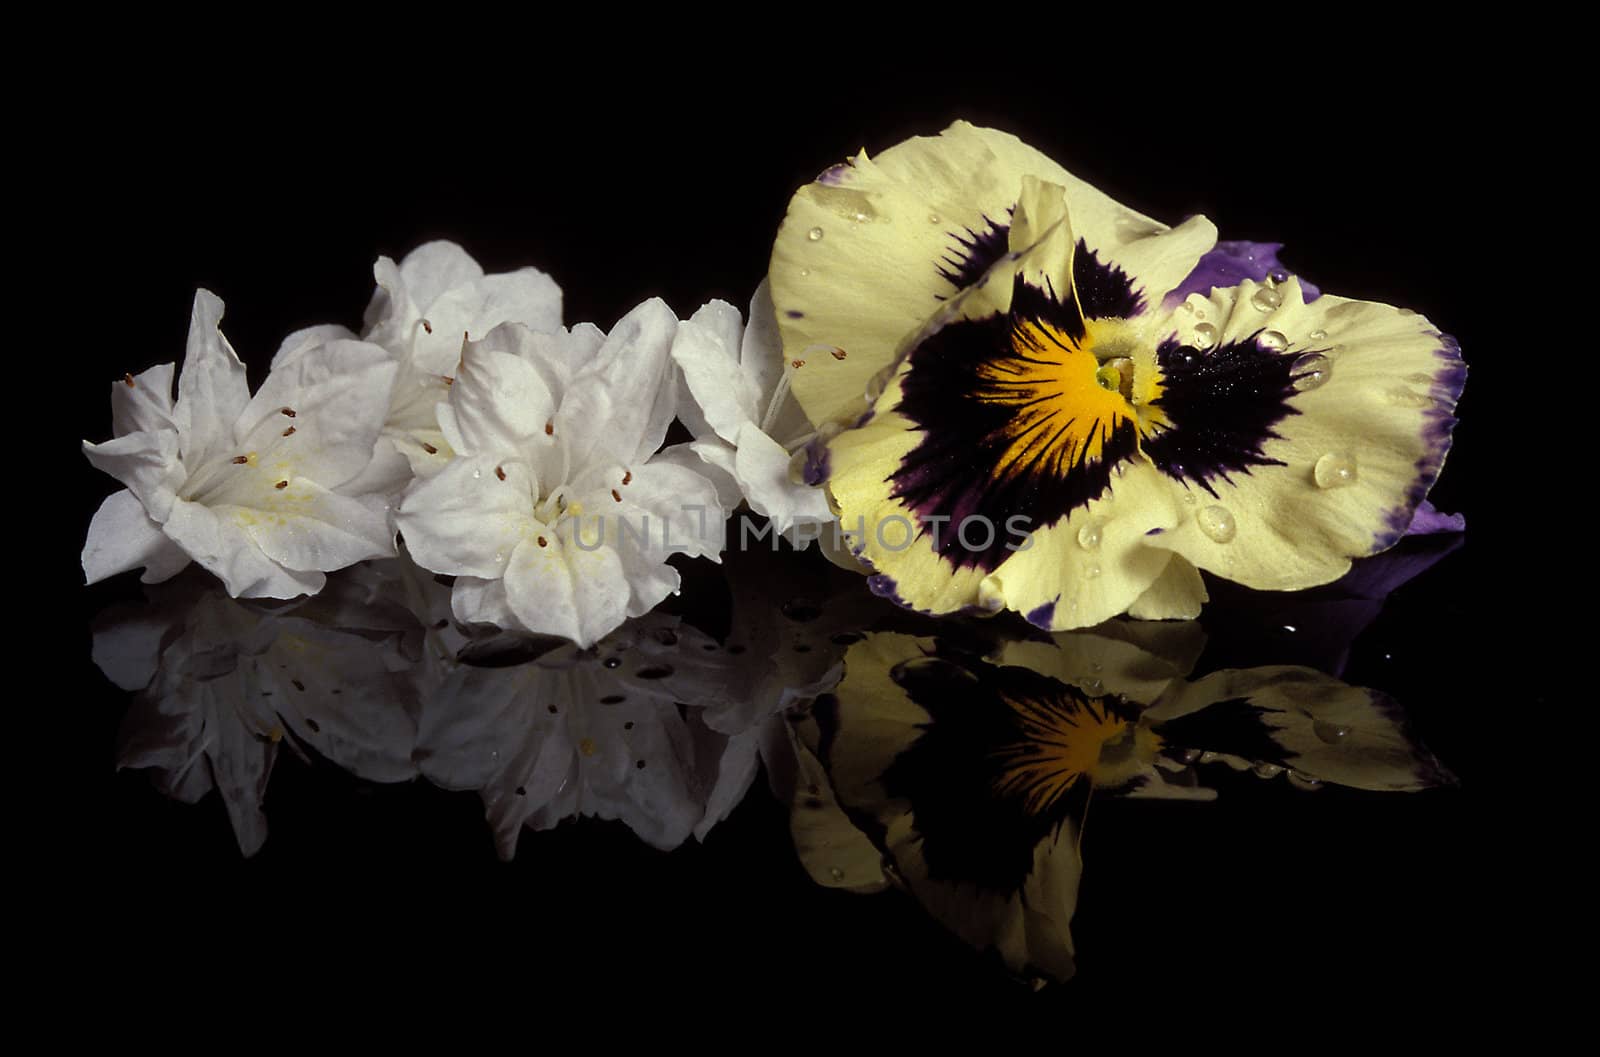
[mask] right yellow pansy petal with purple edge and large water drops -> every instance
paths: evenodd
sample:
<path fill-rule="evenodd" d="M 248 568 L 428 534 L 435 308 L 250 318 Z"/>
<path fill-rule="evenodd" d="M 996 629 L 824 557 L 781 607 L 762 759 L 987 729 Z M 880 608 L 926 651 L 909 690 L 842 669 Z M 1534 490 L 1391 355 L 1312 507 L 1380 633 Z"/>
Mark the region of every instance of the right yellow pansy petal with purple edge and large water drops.
<path fill-rule="evenodd" d="M 1194 294 L 1174 318 L 1176 342 L 1162 350 L 1173 427 L 1146 451 L 1182 483 L 1187 513 L 1152 545 L 1248 587 L 1298 590 L 1405 532 L 1450 449 L 1466 379 L 1450 337 L 1382 304 L 1331 294 L 1306 304 L 1296 280 Z M 1277 371 L 1275 393 L 1248 393 L 1277 408 L 1253 424 L 1250 445 L 1213 445 L 1224 405 L 1203 385 L 1184 403 L 1176 361 L 1195 353 L 1179 342 L 1197 333 L 1211 347 L 1202 361 L 1248 347 Z"/>

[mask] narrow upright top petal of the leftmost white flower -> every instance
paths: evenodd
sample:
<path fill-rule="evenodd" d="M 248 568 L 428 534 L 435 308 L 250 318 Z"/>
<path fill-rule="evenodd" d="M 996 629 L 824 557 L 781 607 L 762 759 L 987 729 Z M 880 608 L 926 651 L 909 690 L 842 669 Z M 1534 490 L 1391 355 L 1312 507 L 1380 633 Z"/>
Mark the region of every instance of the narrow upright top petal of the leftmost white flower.
<path fill-rule="evenodd" d="M 190 465 L 234 446 L 234 424 L 250 403 L 245 365 L 218 329 L 221 321 L 222 301 L 208 289 L 197 289 L 173 409 L 182 456 Z"/>

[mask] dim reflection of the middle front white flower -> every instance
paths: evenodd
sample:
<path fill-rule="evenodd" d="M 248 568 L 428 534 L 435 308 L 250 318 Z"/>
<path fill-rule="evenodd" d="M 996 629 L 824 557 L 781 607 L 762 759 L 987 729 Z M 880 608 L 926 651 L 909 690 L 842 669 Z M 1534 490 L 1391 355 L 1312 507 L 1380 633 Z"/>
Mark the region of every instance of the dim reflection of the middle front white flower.
<path fill-rule="evenodd" d="M 456 668 L 422 708 L 418 758 L 445 788 L 478 790 L 502 857 L 526 825 L 622 820 L 662 849 L 706 832 L 744 796 L 757 734 L 725 736 L 699 708 L 736 659 L 677 617 L 653 614 L 592 649 L 563 646 L 510 668 Z"/>

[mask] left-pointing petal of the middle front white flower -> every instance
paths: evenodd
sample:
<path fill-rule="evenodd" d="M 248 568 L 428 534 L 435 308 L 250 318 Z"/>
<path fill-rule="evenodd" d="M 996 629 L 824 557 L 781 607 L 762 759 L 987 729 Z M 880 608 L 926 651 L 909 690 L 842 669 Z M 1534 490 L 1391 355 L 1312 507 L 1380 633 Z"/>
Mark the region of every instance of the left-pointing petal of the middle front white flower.
<path fill-rule="evenodd" d="M 554 536 L 534 518 L 536 489 L 522 462 L 462 456 L 411 486 L 395 526 L 424 569 L 499 579 L 525 537 Z"/>

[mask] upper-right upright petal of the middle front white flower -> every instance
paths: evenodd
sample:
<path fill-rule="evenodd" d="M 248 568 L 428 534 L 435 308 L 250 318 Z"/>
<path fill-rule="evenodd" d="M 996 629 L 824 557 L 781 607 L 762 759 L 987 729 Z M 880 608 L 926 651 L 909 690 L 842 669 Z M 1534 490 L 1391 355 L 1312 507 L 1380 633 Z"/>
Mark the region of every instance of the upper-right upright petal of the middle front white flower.
<path fill-rule="evenodd" d="M 672 310 L 653 297 L 622 317 L 573 377 L 555 430 L 566 437 L 574 467 L 630 465 L 661 446 L 675 408 L 669 368 L 677 328 Z"/>

